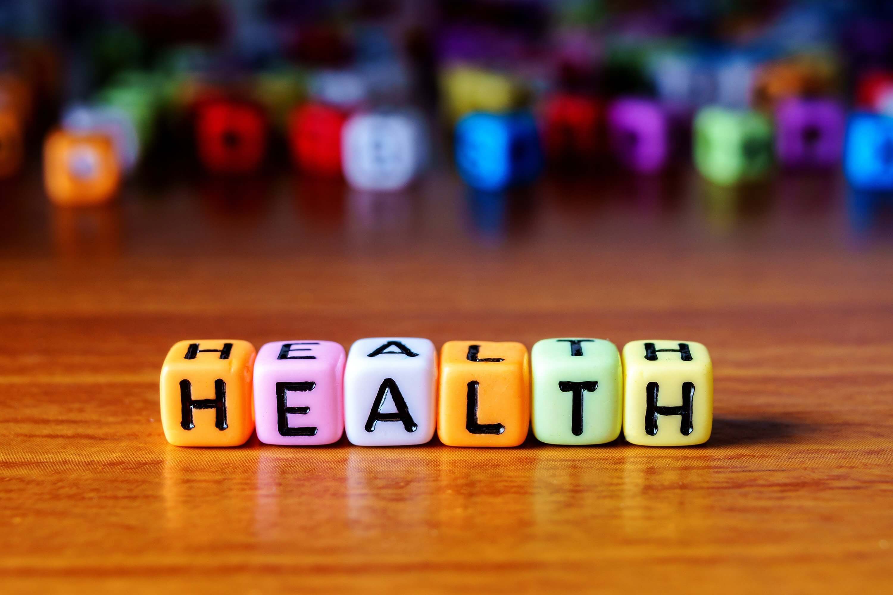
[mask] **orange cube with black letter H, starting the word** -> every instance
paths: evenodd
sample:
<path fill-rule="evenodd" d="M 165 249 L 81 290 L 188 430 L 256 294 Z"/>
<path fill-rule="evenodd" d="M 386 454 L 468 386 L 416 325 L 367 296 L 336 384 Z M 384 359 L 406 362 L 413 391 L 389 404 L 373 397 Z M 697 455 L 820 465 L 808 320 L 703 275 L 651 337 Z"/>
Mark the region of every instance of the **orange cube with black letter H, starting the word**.
<path fill-rule="evenodd" d="M 162 426 L 177 446 L 238 446 L 255 431 L 255 346 L 232 339 L 180 341 L 164 358 Z"/>

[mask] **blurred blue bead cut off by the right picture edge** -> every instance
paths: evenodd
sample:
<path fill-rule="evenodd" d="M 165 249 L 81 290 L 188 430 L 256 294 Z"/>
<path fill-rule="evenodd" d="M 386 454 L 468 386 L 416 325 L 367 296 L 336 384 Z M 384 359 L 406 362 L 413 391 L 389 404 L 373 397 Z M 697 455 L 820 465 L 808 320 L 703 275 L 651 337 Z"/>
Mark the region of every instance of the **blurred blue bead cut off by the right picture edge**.
<path fill-rule="evenodd" d="M 893 118 L 856 113 L 844 149 L 849 183 L 862 190 L 893 190 Z"/>

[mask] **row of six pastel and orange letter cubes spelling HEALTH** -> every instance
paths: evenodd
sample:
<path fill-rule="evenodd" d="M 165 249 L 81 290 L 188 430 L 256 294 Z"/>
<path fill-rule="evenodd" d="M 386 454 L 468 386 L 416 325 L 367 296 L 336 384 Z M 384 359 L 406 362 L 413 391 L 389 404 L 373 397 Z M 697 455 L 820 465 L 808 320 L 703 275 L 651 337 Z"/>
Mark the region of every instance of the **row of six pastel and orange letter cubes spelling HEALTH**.
<path fill-rule="evenodd" d="M 255 359 L 256 355 L 256 359 Z M 439 368 L 439 370 L 438 370 Z M 532 376 L 532 380 L 531 380 Z M 532 385 L 532 386 L 531 386 Z M 532 399 L 531 399 L 532 394 Z M 438 400 L 439 395 L 439 400 Z M 531 418 L 539 441 L 701 444 L 713 425 L 704 345 L 602 339 L 522 343 L 360 339 L 180 341 L 161 374 L 164 434 L 179 446 L 517 446 Z"/>

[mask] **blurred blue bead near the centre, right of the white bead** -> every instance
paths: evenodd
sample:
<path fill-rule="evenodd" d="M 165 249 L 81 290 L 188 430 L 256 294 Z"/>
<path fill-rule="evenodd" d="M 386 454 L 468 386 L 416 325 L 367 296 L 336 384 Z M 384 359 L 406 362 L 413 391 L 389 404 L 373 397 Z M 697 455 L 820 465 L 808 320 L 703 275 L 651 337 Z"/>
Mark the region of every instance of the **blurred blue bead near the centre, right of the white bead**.
<path fill-rule="evenodd" d="M 480 190 L 530 182 L 543 167 L 537 123 L 526 112 L 469 114 L 456 124 L 455 161 L 465 183 Z"/>

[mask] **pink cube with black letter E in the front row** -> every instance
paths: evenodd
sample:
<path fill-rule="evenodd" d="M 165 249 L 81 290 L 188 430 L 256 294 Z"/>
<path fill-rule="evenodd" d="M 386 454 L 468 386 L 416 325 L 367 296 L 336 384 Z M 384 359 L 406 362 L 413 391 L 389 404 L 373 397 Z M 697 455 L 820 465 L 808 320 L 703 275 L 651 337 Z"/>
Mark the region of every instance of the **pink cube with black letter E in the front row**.
<path fill-rule="evenodd" d="M 331 444 L 344 433 L 344 347 L 331 341 L 266 343 L 255 360 L 257 439 Z"/>

